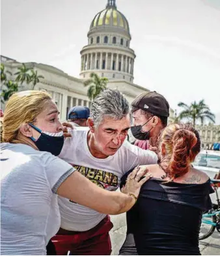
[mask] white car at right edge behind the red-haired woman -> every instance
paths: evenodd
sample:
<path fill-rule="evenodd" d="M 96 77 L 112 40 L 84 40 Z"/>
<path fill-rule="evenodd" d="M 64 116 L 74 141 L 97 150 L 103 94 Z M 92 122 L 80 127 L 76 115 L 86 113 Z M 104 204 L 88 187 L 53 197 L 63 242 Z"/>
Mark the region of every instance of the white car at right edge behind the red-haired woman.
<path fill-rule="evenodd" d="M 193 162 L 193 167 L 204 171 L 210 178 L 214 178 L 220 170 L 220 152 L 202 150 Z"/>

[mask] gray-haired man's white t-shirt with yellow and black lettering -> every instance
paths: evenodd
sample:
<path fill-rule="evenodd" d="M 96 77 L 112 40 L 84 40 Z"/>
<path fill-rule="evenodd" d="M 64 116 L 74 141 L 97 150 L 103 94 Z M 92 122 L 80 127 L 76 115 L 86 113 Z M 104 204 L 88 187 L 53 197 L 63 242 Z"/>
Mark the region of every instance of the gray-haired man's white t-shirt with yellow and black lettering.
<path fill-rule="evenodd" d="M 59 155 L 82 175 L 105 190 L 117 190 L 120 179 L 137 165 L 156 164 L 158 157 L 150 150 L 143 150 L 124 141 L 113 156 L 105 159 L 95 158 L 87 145 L 89 128 L 74 128 L 72 137 L 64 142 Z M 83 195 L 82 195 L 83 196 Z M 96 200 L 96 198 L 94 198 Z M 87 231 L 105 218 L 95 210 L 78 205 L 64 197 L 58 198 L 61 212 L 61 227 L 69 231 Z"/>

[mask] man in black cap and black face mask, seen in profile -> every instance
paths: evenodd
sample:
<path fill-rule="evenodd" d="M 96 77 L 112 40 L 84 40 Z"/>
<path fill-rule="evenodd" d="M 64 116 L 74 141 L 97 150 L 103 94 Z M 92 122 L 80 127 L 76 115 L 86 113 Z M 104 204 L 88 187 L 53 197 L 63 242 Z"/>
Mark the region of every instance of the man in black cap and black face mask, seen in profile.
<path fill-rule="evenodd" d="M 158 135 L 167 126 L 169 103 L 158 92 L 144 92 L 131 103 L 133 126 L 131 133 L 142 149 L 156 147 Z"/>

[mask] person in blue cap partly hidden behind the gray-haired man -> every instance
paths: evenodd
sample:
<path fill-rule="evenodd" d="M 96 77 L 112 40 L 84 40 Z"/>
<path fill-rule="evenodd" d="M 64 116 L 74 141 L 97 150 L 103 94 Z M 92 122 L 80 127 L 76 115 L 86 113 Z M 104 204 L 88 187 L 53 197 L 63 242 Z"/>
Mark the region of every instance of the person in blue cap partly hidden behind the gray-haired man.
<path fill-rule="evenodd" d="M 68 111 L 68 122 L 70 122 L 72 126 L 87 126 L 89 117 L 89 107 L 75 106 Z"/>

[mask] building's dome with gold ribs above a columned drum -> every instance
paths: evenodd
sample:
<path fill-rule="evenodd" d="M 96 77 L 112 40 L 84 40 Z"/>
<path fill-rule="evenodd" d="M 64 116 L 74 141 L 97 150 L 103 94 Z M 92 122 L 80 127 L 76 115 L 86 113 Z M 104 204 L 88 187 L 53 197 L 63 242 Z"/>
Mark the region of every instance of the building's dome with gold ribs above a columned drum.
<path fill-rule="evenodd" d="M 128 20 L 117 10 L 115 0 L 108 0 L 105 10 L 94 16 L 87 36 L 88 45 L 80 52 L 81 78 L 96 72 L 109 80 L 132 83 L 135 52 L 130 48 Z"/>

